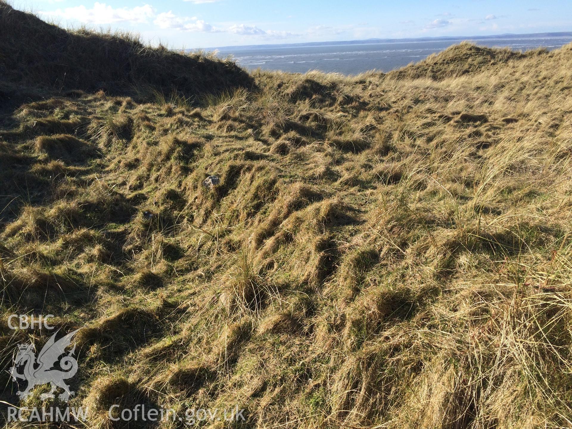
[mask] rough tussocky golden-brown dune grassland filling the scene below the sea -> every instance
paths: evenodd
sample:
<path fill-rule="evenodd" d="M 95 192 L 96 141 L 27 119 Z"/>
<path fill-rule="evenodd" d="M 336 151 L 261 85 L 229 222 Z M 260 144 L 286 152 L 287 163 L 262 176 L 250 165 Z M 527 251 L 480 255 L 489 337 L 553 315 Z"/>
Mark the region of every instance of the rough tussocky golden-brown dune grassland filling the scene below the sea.
<path fill-rule="evenodd" d="M 6 317 L 51 313 L 81 327 L 89 427 L 125 427 L 114 403 L 239 404 L 240 427 L 570 427 L 572 45 L 462 43 L 355 77 L 165 56 L 220 86 L 80 70 L 32 91 L 41 72 L 0 57 L 0 88 L 43 94 L 0 121 L 3 368 L 49 336 Z"/>

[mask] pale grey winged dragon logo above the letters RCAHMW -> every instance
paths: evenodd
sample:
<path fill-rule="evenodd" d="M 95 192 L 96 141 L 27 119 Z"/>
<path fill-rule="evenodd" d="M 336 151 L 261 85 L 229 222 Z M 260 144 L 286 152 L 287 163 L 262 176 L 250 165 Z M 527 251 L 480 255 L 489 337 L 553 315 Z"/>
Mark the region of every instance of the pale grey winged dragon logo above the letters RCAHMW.
<path fill-rule="evenodd" d="M 47 343 L 42 347 L 42 350 L 38 353 L 36 358 L 34 353 L 33 344 L 19 344 L 18 353 L 14 359 L 14 366 L 10 370 L 12 379 L 16 381 L 17 379 L 26 380 L 28 386 L 26 390 L 19 391 L 17 395 L 20 399 L 26 399 L 30 395 L 30 391 L 34 386 L 40 386 L 41 384 L 51 384 L 51 390 L 47 394 L 40 395 L 40 398 L 48 399 L 54 398 L 54 392 L 57 387 L 63 389 L 63 393 L 59 395 L 59 399 L 67 402 L 70 396 L 73 396 L 74 392 L 70 391 L 70 387 L 63 381 L 72 378 L 77 372 L 77 360 L 73 358 L 76 351 L 76 346 L 67 352 L 67 355 L 62 356 L 65 353 L 65 349 L 72 343 L 72 337 L 76 335 L 76 331 L 68 333 L 63 336 L 58 341 L 55 341 L 55 336 L 59 332 L 56 331 L 54 335 L 47 340 Z M 62 356 L 61 359 L 59 357 Z M 54 369 L 55 364 L 59 359 L 59 369 Z M 23 374 L 19 374 L 17 368 L 23 366 Z"/>

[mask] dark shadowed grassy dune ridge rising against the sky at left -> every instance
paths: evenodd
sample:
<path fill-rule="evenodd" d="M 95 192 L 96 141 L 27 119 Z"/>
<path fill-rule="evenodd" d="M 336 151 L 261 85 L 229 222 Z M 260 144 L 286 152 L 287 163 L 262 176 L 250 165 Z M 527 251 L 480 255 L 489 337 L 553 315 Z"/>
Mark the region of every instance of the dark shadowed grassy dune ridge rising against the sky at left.
<path fill-rule="evenodd" d="M 117 94 L 173 90 L 199 96 L 252 79 L 232 61 L 201 53 L 152 48 L 129 33 L 68 31 L 0 1 L 2 74 L 25 86 L 53 90 L 104 90 Z M 1 90 L 1 88 L 0 88 Z M 1 93 L 0 93 L 1 96 Z"/>

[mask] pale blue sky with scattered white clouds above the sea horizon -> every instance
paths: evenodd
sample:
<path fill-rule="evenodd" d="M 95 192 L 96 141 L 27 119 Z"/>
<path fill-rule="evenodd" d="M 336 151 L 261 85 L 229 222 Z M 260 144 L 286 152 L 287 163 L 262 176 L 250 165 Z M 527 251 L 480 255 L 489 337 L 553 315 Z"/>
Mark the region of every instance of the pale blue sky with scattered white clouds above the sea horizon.
<path fill-rule="evenodd" d="M 128 30 L 193 49 L 572 31 L 570 0 L 11 0 L 65 27 Z"/>

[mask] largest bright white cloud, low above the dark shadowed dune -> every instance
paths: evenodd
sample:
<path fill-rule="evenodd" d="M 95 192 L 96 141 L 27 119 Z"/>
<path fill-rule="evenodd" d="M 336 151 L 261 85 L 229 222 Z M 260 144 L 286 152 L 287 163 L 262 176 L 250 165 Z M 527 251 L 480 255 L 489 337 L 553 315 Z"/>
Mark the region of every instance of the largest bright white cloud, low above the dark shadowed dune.
<path fill-rule="evenodd" d="M 116 22 L 146 23 L 149 18 L 155 15 L 151 5 L 129 7 L 108 6 L 105 3 L 94 3 L 92 9 L 85 6 L 66 7 L 54 11 L 42 12 L 45 15 L 62 17 L 65 19 L 76 19 L 80 22 L 90 24 L 112 24 Z"/>

